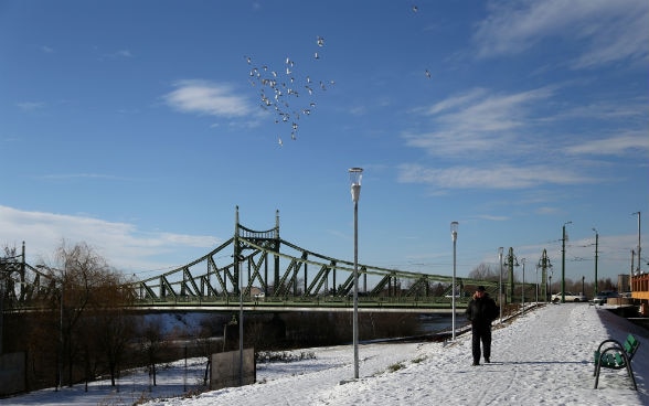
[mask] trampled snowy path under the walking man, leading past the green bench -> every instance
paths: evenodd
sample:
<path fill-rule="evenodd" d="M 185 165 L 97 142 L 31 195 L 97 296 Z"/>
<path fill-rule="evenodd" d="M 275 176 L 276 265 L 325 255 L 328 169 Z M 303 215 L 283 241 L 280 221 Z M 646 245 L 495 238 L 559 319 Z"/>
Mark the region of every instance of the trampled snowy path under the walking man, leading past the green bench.
<path fill-rule="evenodd" d="M 470 334 L 445 349 L 428 344 L 421 350 L 425 362 L 411 363 L 407 368 L 358 385 L 331 388 L 320 394 L 318 404 L 380 400 L 406 405 L 432 404 L 434 399 L 444 400 L 444 405 L 647 404 L 647 389 L 642 398 L 638 397 L 629 391 L 630 381 L 623 373 L 604 372 L 599 389 L 593 389 L 592 354 L 608 334 L 598 320 L 599 312 L 607 313 L 583 303 L 528 312 L 512 325 L 494 329 L 492 364 L 487 365 L 471 366 Z M 624 340 L 626 333 L 619 334 L 618 339 Z M 638 353 L 634 366 L 646 366 L 648 360 L 647 352 Z"/>

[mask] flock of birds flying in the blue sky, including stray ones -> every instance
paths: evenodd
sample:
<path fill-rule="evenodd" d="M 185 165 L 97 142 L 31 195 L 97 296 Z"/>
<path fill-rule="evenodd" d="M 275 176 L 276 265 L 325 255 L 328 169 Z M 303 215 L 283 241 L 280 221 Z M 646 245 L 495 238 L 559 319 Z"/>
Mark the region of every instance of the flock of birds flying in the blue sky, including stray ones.
<path fill-rule="evenodd" d="M 418 12 L 417 6 L 412 6 L 414 13 Z M 317 51 L 312 58 L 320 60 L 320 49 L 324 46 L 322 36 L 316 38 Z M 290 135 L 291 140 L 297 139 L 300 117 L 310 116 L 316 108 L 316 95 L 327 90 L 336 84 L 334 81 L 316 81 L 309 75 L 299 76 L 296 63 L 286 57 L 281 70 L 273 70 L 268 65 L 257 65 L 252 56 L 244 56 L 249 68 L 249 84 L 259 89 L 259 105 L 265 110 L 273 113 L 276 125 L 280 126 L 277 142 L 284 146 L 283 136 Z M 430 71 L 425 70 L 424 75 L 430 78 Z M 300 97 L 301 96 L 301 97 Z"/>

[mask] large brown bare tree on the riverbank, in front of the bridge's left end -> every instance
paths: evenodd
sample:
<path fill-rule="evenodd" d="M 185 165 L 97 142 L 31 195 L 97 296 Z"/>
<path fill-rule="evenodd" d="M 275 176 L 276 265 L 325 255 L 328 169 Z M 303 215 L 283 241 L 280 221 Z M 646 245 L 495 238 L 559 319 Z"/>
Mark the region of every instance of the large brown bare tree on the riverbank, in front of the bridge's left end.
<path fill-rule="evenodd" d="M 98 352 L 104 352 L 115 384 L 119 356 L 132 336 L 119 310 L 129 298 L 121 289 L 124 278 L 85 243 L 67 246 L 63 242 L 55 258 L 54 266 L 43 268 L 55 293 L 53 313 L 58 313 L 58 372 L 67 372 L 68 386 L 81 376 L 87 383 L 99 365 Z M 58 382 L 62 383 L 62 376 Z"/>

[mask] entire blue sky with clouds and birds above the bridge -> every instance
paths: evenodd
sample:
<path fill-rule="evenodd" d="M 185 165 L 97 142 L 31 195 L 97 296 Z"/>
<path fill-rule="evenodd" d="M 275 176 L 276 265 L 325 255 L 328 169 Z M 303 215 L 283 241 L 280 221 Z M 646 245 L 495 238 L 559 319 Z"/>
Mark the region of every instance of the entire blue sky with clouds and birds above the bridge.
<path fill-rule="evenodd" d="M 566 277 L 592 280 L 594 227 L 599 276 L 627 274 L 648 20 L 646 0 L 4 0 L 0 243 L 149 276 L 230 238 L 238 205 L 353 259 L 362 167 L 361 263 L 450 275 L 457 221 L 459 276 L 499 246 L 560 270 L 572 222 Z"/>

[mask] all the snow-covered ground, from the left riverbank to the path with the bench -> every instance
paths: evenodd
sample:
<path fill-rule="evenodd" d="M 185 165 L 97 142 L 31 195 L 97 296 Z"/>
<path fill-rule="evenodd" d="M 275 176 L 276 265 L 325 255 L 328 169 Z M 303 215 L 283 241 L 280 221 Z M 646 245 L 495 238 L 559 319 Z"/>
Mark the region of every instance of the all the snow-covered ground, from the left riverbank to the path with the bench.
<path fill-rule="evenodd" d="M 625 370 L 603 370 L 594 389 L 593 352 L 605 339 L 624 341 L 634 333 L 640 348 L 632 365 L 638 392 Z M 172 397 L 202 377 L 201 360 L 160 371 L 149 391 L 139 373 L 62 392 L 40 391 L 1 399 L 0 405 L 649 405 L 649 333 L 606 310 L 585 303 L 550 304 L 496 325 L 491 364 L 471 366 L 470 333 L 449 343 L 361 345 L 360 375 L 353 377 L 351 345 L 309 349 L 316 357 L 257 364 L 257 383 Z M 296 353 L 299 353 L 297 351 Z"/>

